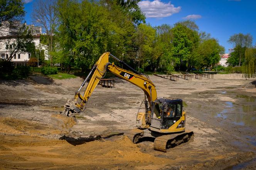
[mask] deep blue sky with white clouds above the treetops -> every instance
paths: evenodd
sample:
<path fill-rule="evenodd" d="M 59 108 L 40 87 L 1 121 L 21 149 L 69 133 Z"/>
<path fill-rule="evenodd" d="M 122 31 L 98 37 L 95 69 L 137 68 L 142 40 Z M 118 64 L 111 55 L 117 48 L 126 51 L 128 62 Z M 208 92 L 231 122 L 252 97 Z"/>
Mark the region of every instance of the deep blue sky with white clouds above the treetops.
<path fill-rule="evenodd" d="M 225 47 L 233 34 L 253 35 L 256 45 L 256 0 L 143 0 L 139 3 L 152 26 L 169 24 L 189 18 L 195 21 L 200 31 L 210 33 Z M 31 24 L 30 13 L 33 0 L 25 0 L 25 20 Z"/>

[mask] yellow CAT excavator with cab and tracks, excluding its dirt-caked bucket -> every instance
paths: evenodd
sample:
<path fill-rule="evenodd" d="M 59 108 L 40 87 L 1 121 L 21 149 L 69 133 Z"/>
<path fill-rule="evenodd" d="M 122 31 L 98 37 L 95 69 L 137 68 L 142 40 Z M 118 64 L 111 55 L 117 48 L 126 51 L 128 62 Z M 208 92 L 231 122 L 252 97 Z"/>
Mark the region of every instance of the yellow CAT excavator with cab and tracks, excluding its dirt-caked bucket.
<path fill-rule="evenodd" d="M 109 62 L 109 57 L 113 57 L 124 67 L 131 71 L 125 70 Z M 186 113 L 182 110 L 182 99 L 177 98 L 157 98 L 155 85 L 150 81 L 146 74 L 137 72 L 125 62 L 105 52 L 94 64 L 88 76 L 76 92 L 73 101 L 68 101 L 62 114 L 74 117 L 86 108 L 86 103 L 98 85 L 100 79 L 109 71 L 117 77 L 124 79 L 144 91 L 145 112 L 138 112 L 136 117 L 136 129 L 127 131 L 125 136 L 137 143 L 143 138 L 154 140 L 154 149 L 166 152 L 168 148 L 177 146 L 181 143 L 192 141 L 194 133 L 185 131 Z M 91 74 L 93 74 L 91 76 Z M 91 77 L 84 94 L 81 89 Z"/>

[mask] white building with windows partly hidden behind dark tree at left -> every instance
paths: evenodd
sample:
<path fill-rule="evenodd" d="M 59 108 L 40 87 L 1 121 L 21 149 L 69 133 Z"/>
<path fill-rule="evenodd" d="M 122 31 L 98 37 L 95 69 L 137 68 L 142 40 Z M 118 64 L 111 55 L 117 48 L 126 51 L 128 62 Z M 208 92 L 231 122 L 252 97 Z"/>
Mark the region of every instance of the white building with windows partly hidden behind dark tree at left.
<path fill-rule="evenodd" d="M 0 57 L 2 59 L 7 59 L 10 57 L 10 52 L 8 51 L 7 42 L 12 44 L 15 41 L 16 35 L 21 24 L 19 22 L 15 24 L 4 24 L 6 27 L 0 28 Z M 27 25 L 27 28 L 31 29 L 33 32 L 33 42 L 35 47 L 39 47 L 40 45 L 40 34 L 42 34 L 42 28 L 36 27 L 34 25 Z M 27 62 L 29 61 L 31 54 L 29 52 L 18 52 L 13 58 L 13 62 Z"/>

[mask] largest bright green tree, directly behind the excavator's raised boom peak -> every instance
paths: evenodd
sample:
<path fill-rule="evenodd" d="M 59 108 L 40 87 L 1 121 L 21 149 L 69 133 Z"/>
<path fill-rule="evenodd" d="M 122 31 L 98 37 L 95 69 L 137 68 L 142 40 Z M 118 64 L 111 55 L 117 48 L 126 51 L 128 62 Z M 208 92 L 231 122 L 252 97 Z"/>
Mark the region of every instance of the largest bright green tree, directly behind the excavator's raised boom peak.
<path fill-rule="evenodd" d="M 115 1 L 59 0 L 59 61 L 85 71 L 106 51 L 129 60 L 136 24 L 124 8 Z"/>

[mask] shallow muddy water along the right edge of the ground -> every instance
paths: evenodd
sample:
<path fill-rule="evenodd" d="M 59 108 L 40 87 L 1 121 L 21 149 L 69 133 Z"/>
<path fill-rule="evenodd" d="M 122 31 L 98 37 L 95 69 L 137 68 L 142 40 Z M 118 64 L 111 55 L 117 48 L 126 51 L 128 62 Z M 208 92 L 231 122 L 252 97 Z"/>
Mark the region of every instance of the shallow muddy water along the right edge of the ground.
<path fill-rule="evenodd" d="M 236 92 L 221 91 L 221 94 L 234 96 Z M 256 132 L 256 97 L 244 94 L 236 94 L 235 102 L 226 101 L 222 111 L 215 114 L 216 118 L 222 118 L 224 122 L 228 121 L 235 125 L 242 126 L 243 129 Z M 242 140 L 246 139 L 246 140 Z M 242 150 L 253 151 L 256 153 L 256 134 L 241 134 L 238 140 L 232 142 Z M 256 158 L 231 166 L 225 170 L 239 170 L 256 165 Z"/>

